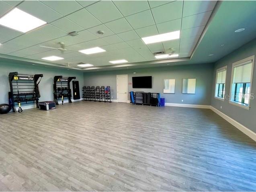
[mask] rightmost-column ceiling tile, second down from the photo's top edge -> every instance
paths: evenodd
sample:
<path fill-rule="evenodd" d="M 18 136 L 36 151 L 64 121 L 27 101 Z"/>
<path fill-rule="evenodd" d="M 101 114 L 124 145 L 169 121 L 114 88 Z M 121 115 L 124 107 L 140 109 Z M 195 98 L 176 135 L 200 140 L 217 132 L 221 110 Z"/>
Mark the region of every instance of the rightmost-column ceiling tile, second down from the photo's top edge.
<path fill-rule="evenodd" d="M 206 25 L 210 16 L 211 16 L 211 11 L 184 17 L 182 18 L 181 28 L 188 29 L 188 28 Z"/>

